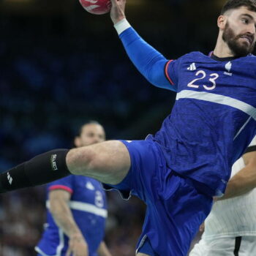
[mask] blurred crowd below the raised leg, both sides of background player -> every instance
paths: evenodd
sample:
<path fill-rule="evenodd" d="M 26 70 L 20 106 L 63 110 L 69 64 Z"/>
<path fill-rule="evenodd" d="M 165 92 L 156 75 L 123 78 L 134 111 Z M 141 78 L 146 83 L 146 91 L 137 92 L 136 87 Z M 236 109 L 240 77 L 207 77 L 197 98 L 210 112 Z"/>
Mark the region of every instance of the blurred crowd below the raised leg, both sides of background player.
<path fill-rule="evenodd" d="M 108 192 L 105 241 L 118 256 L 135 255 L 145 206 L 135 197 L 128 202 Z M 0 196 L 0 256 L 34 256 L 44 222 L 45 187 L 22 189 Z"/>

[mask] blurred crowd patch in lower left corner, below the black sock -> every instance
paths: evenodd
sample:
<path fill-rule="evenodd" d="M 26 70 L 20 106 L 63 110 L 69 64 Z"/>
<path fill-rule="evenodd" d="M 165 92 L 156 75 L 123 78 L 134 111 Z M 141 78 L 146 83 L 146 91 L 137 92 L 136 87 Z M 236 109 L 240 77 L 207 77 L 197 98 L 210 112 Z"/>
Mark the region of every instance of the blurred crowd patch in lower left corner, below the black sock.
<path fill-rule="evenodd" d="M 0 255 L 32 256 L 45 219 L 42 187 L 0 197 Z"/>

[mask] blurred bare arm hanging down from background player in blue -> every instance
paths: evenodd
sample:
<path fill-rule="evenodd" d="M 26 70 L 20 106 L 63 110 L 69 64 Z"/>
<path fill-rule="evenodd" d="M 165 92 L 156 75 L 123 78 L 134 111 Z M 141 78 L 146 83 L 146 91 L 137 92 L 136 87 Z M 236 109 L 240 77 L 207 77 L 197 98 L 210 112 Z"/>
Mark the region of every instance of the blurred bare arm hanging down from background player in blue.
<path fill-rule="evenodd" d="M 88 256 L 86 240 L 75 223 L 75 219 L 69 208 L 70 196 L 70 193 L 65 190 L 54 189 L 50 191 L 50 213 L 53 215 L 56 225 L 69 237 L 67 255 Z"/>

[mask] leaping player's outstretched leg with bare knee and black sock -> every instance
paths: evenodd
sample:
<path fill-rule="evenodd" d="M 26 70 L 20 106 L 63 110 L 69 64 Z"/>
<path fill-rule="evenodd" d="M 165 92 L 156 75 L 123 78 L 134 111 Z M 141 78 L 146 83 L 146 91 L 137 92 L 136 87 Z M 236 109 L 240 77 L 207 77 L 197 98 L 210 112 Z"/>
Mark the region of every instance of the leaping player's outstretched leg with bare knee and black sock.
<path fill-rule="evenodd" d="M 118 140 L 72 150 L 56 149 L 0 174 L 0 192 L 46 184 L 69 174 L 118 184 L 130 167 L 129 152 Z"/>

